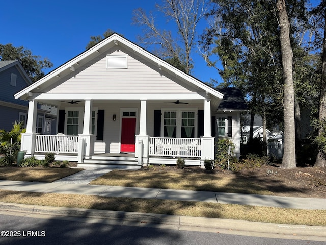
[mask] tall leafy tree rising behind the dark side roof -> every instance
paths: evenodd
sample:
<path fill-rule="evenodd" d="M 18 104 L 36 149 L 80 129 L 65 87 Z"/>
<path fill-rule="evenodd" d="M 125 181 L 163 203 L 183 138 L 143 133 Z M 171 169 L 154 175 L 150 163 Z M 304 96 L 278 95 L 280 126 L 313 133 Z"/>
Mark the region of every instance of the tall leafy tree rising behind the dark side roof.
<path fill-rule="evenodd" d="M 202 37 L 203 56 L 209 66 L 218 69 L 222 86 L 239 87 L 249 99 L 251 125 L 255 114 L 263 118 L 266 132 L 268 113 L 280 110 L 280 48 L 277 19 L 269 1 L 214 0 L 207 15 L 211 27 Z M 215 61 L 214 55 L 218 56 Z M 222 62 L 223 69 L 216 63 Z M 272 106 L 273 105 L 273 106 Z M 273 109 L 272 109 L 273 108 Z M 277 113 L 274 113 L 277 114 Z M 253 127 L 251 127 L 252 136 Z M 263 134 L 267 153 L 267 137 Z M 250 139 L 252 141 L 252 137 Z"/>

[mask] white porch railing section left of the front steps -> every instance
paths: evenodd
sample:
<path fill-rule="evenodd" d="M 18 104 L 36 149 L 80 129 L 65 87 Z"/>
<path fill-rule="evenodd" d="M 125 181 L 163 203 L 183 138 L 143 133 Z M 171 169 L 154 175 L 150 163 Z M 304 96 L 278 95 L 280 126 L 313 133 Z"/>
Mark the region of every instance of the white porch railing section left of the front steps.
<path fill-rule="evenodd" d="M 35 152 L 77 153 L 78 136 L 36 135 Z"/>

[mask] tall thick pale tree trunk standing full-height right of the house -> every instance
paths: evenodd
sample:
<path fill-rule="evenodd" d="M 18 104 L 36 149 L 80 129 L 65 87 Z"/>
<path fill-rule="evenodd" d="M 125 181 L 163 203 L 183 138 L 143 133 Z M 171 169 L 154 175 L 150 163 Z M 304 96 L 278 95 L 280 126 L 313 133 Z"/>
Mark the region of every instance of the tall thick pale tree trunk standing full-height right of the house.
<path fill-rule="evenodd" d="M 285 0 L 276 3 L 280 22 L 280 41 L 284 82 L 284 154 L 281 168 L 296 168 L 295 120 L 293 86 L 293 52 L 290 43 L 290 23 Z"/>

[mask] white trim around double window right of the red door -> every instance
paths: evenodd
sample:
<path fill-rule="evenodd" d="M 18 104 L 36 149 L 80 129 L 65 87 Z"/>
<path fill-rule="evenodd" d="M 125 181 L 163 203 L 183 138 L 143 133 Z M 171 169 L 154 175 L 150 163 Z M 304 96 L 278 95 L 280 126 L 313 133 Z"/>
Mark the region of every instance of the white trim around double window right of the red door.
<path fill-rule="evenodd" d="M 164 137 L 164 113 L 165 112 L 177 112 L 177 122 L 176 122 L 176 138 L 181 138 L 181 128 L 182 128 L 182 112 L 194 112 L 195 122 L 194 122 L 194 138 L 198 137 L 198 108 L 197 107 L 167 107 L 161 108 L 161 137 Z"/>

